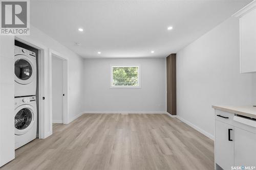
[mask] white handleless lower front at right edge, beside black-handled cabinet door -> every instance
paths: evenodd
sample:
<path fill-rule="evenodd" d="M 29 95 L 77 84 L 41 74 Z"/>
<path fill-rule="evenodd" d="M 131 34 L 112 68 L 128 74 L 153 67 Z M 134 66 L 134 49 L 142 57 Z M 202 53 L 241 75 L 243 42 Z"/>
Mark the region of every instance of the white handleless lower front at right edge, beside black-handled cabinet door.
<path fill-rule="evenodd" d="M 256 167 L 256 134 L 234 128 L 234 163 Z"/>

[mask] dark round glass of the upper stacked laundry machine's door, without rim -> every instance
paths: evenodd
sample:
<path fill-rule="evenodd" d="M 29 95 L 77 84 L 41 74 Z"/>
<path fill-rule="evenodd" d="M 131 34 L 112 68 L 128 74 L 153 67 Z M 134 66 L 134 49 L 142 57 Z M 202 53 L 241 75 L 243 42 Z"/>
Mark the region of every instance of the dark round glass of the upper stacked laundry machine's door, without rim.
<path fill-rule="evenodd" d="M 27 60 L 19 59 L 15 61 L 14 72 L 20 80 L 28 80 L 32 75 L 32 66 Z"/>

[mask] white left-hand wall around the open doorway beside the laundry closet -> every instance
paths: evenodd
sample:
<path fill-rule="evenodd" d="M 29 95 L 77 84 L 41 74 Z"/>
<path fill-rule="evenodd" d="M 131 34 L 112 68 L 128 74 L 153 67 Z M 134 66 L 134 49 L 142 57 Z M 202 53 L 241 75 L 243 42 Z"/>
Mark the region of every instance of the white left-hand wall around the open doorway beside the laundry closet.
<path fill-rule="evenodd" d="M 69 77 L 68 77 L 68 84 L 69 84 L 69 122 L 79 116 L 83 111 L 83 59 L 69 50 L 66 46 L 60 44 L 58 41 L 54 40 L 53 38 L 49 37 L 47 34 L 41 32 L 39 29 L 30 26 L 30 35 L 29 36 L 18 36 L 26 41 L 31 41 L 35 43 L 39 43 L 46 47 L 49 47 L 51 50 L 58 52 L 59 54 L 66 56 L 68 59 L 69 65 Z M 49 70 L 49 52 L 46 51 L 46 64 L 47 70 Z M 49 72 L 48 72 L 49 74 Z M 47 75 L 49 78 L 49 75 Z M 49 85 L 49 80 L 46 80 L 46 84 Z M 46 101 L 49 100 L 49 88 L 45 91 Z M 49 106 L 48 106 L 49 107 Z M 51 135 L 51 124 L 50 124 L 50 114 L 49 111 L 45 111 L 46 122 L 45 122 L 45 134 L 46 137 Z"/>

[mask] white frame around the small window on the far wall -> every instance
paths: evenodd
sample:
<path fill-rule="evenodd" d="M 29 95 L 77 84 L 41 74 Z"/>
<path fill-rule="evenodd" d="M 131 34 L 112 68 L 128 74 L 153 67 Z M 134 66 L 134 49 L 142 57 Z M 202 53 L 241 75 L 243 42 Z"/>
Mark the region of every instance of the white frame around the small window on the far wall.
<path fill-rule="evenodd" d="M 138 86 L 113 86 L 113 68 L 114 67 L 138 67 Z M 140 65 L 111 65 L 110 66 L 110 88 L 141 88 Z"/>

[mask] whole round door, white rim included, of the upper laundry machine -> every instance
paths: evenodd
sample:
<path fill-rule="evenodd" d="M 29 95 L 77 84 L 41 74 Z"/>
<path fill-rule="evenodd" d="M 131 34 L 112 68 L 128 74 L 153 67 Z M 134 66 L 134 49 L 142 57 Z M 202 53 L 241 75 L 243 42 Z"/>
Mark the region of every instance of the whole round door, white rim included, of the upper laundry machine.
<path fill-rule="evenodd" d="M 32 64 L 32 59 L 30 57 L 22 54 L 15 56 L 15 82 L 19 84 L 31 83 L 35 77 L 35 71 L 35 65 Z"/>

